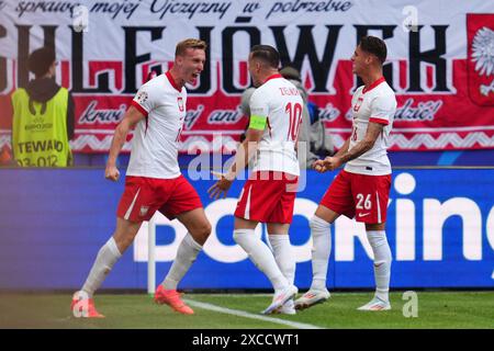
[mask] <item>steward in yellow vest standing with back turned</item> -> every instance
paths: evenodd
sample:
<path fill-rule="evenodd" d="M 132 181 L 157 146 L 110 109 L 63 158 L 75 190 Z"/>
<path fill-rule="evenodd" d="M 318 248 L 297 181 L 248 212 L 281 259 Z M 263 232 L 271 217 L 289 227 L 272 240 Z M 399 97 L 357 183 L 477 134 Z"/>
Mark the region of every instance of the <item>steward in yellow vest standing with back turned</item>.
<path fill-rule="evenodd" d="M 33 52 L 30 70 L 36 79 L 12 94 L 12 151 L 21 167 L 72 165 L 74 102 L 67 89 L 55 83 L 55 54 Z"/>

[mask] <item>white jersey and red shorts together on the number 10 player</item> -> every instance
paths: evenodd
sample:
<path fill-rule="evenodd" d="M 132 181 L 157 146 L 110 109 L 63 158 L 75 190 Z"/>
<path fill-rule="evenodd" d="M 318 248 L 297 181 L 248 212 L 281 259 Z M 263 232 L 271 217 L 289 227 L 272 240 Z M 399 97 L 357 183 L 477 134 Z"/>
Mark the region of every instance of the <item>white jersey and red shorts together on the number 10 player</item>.
<path fill-rule="evenodd" d="M 291 223 L 297 178 L 296 139 L 303 100 L 281 75 L 269 77 L 250 98 L 250 127 L 263 128 L 252 174 L 235 216 L 262 223 Z"/>

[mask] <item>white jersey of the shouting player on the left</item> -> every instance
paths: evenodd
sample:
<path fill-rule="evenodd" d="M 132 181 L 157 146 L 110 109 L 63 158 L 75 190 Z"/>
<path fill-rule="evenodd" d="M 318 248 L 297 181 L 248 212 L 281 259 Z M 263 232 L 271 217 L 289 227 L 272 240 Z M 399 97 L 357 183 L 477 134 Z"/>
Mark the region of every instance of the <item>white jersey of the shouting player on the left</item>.
<path fill-rule="evenodd" d="M 142 86 L 132 104 L 146 118 L 135 126 L 127 174 L 159 179 L 179 177 L 177 157 L 186 118 L 186 88 L 178 89 L 171 75 L 166 72 Z"/>

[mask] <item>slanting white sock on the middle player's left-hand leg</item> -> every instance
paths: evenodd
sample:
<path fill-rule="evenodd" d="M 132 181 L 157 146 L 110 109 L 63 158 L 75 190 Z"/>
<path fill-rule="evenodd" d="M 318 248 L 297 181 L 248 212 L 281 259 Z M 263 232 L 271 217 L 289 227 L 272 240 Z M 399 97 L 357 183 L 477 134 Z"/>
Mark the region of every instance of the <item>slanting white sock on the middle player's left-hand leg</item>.
<path fill-rule="evenodd" d="M 278 268 L 271 250 L 254 234 L 254 229 L 236 229 L 234 239 L 247 252 L 254 264 L 268 276 L 276 291 L 289 285 L 288 280 Z"/>

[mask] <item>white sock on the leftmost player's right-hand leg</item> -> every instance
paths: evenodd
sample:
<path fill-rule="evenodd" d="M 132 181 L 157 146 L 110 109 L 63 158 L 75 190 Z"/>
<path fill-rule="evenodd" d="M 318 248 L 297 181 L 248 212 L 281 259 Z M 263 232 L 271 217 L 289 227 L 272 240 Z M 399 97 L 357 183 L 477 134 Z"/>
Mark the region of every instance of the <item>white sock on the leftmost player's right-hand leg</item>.
<path fill-rule="evenodd" d="M 171 264 L 170 271 L 162 281 L 162 286 L 167 290 L 177 290 L 178 283 L 189 271 L 192 263 L 195 261 L 199 252 L 201 252 L 202 246 L 200 246 L 194 238 L 188 233 L 180 242 L 177 250 L 177 257 L 173 264 Z"/>

